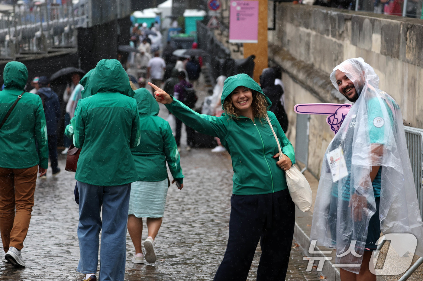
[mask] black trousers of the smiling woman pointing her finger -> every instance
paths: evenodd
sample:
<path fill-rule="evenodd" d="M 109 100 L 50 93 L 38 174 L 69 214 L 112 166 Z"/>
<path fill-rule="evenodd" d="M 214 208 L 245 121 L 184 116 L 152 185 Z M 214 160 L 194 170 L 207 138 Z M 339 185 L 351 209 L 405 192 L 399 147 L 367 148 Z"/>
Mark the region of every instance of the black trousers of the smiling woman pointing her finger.
<path fill-rule="evenodd" d="M 258 281 L 285 280 L 294 236 L 295 207 L 288 189 L 231 197 L 229 240 L 214 281 L 245 281 L 260 239 Z"/>

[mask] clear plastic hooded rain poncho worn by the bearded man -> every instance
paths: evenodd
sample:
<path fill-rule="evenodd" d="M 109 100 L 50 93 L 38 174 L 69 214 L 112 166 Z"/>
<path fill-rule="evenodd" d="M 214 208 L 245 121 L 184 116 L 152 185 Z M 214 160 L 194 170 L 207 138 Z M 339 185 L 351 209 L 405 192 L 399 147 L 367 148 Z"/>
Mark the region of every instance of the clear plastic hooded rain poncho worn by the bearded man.
<path fill-rule="evenodd" d="M 401 110 L 391 96 L 379 90 L 379 77 L 363 58 L 346 60 L 333 69 L 330 80 L 338 89 L 337 69 L 354 83 L 359 97 L 325 152 L 310 240 L 336 248 L 336 264 L 361 264 L 369 220 L 376 211 L 369 174 L 372 166 L 381 166 L 380 230 L 383 234 L 414 234 L 418 240 L 415 253 L 422 256 L 422 220 Z M 338 171 L 334 171 L 331 163 L 337 159 Z M 361 220 L 353 219 L 354 212 L 362 215 Z M 345 254 L 349 249 L 357 254 Z M 360 267 L 342 268 L 360 271 Z"/>

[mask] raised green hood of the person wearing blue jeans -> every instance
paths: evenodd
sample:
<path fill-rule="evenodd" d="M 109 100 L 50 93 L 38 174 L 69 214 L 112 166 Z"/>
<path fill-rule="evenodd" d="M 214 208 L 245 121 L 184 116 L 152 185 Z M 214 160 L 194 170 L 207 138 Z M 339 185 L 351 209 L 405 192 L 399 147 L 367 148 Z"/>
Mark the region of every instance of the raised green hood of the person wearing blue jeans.
<path fill-rule="evenodd" d="M 130 97 L 135 94 L 129 85 L 128 74 L 116 59 L 99 61 L 91 72 L 87 88 L 88 93 L 84 93 L 86 96 L 92 96 L 99 92 L 118 92 Z"/>

